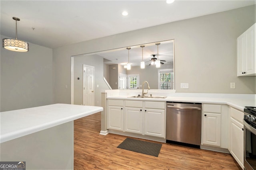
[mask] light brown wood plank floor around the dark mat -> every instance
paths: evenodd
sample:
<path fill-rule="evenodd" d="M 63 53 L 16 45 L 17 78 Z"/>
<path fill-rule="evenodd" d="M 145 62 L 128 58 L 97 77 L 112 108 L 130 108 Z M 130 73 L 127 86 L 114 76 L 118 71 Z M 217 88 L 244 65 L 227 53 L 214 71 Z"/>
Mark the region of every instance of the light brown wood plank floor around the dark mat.
<path fill-rule="evenodd" d="M 155 157 L 117 148 L 125 136 L 99 133 L 100 113 L 74 121 L 75 170 L 242 170 L 230 154 L 162 143 Z"/>

